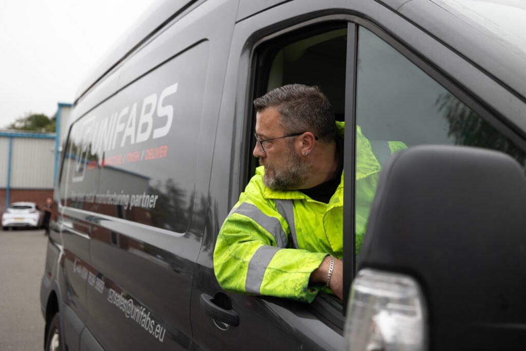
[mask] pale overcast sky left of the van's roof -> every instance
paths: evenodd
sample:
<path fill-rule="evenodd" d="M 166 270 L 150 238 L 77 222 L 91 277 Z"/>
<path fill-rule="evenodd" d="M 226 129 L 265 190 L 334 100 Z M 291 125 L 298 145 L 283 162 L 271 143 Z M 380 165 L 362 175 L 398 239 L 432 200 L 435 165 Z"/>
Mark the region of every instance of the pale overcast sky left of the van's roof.
<path fill-rule="evenodd" d="M 0 2 L 0 129 L 73 103 L 100 57 L 155 0 Z"/>

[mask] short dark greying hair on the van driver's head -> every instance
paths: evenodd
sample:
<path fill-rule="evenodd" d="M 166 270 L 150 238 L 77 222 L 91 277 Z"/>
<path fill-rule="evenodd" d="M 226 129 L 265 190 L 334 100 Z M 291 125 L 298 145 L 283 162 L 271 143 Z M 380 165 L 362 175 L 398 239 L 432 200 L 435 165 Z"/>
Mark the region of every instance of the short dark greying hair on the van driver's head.
<path fill-rule="evenodd" d="M 320 141 L 332 143 L 336 122 L 332 105 L 317 86 L 289 84 L 272 89 L 254 100 L 256 112 L 275 107 L 286 133 L 311 132 Z"/>

